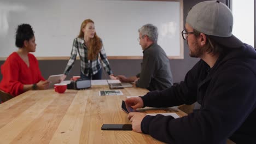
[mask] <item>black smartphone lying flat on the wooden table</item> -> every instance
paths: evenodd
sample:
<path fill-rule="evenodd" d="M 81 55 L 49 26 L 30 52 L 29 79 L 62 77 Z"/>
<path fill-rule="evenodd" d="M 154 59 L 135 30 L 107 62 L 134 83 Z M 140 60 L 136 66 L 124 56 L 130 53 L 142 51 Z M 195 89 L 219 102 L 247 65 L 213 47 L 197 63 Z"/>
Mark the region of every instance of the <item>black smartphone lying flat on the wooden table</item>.
<path fill-rule="evenodd" d="M 101 130 L 132 130 L 131 124 L 103 124 Z"/>

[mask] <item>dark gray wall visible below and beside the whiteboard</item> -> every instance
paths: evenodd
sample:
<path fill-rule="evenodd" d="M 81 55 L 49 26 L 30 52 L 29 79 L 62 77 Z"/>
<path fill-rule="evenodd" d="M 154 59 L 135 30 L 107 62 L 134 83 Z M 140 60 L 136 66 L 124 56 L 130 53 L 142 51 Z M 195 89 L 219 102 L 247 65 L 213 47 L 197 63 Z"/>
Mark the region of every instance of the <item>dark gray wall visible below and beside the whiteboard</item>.
<path fill-rule="evenodd" d="M 228 0 L 223 0 L 221 2 L 226 3 Z M 188 11 L 196 3 L 202 2 L 200 0 L 183 0 L 184 6 L 184 22 L 187 17 Z M 139 26 L 138 26 L 139 27 Z M 136 31 L 136 30 L 135 30 Z M 71 49 L 71 47 L 70 47 Z M 179 82 L 184 80 L 185 74 L 193 65 L 199 61 L 198 58 L 191 58 L 189 56 L 187 41 L 184 41 L 184 59 L 170 59 L 171 71 L 173 74 L 173 81 Z M 141 61 L 139 60 L 127 60 L 127 59 L 109 59 L 110 66 L 115 75 L 126 75 L 133 76 L 141 70 Z M 3 64 L 3 61 L 0 61 L 0 65 Z M 39 67 L 42 72 L 42 75 L 45 79 L 48 79 L 49 75 L 62 74 L 67 64 L 65 61 L 39 61 Z M 73 75 L 80 75 L 80 61 L 76 61 L 75 65 L 67 77 L 70 79 Z M 104 79 L 104 74 L 103 79 Z M 2 74 L 0 75 L 0 80 L 2 80 Z"/>

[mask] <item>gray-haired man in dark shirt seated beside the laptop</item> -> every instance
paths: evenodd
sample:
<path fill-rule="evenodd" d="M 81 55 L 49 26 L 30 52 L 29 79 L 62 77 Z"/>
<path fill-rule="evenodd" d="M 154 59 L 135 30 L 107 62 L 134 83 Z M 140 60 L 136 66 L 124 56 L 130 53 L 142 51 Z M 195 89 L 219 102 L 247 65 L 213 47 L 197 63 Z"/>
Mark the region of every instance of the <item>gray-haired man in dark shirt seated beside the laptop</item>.
<path fill-rule="evenodd" d="M 158 28 L 147 24 L 138 29 L 139 44 L 143 50 L 141 73 L 132 77 L 119 75 L 121 82 L 136 82 L 137 87 L 149 91 L 162 90 L 172 86 L 170 62 L 165 51 L 158 45 Z"/>

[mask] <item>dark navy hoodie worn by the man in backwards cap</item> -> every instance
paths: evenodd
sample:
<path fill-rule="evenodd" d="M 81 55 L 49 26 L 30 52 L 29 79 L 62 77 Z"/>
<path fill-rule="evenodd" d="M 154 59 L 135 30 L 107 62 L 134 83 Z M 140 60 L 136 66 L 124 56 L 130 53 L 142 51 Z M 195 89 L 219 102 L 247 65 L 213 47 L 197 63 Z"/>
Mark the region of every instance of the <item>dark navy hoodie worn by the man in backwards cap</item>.
<path fill-rule="evenodd" d="M 201 109 L 188 116 L 146 116 L 143 133 L 167 143 L 256 143 L 256 52 L 241 45 L 220 56 L 210 67 L 202 61 L 184 82 L 142 97 L 144 106 L 193 104 Z"/>

